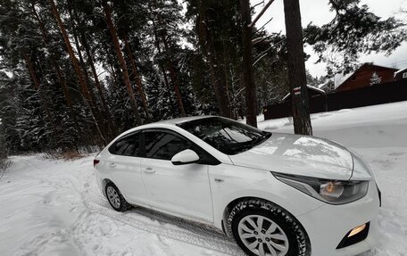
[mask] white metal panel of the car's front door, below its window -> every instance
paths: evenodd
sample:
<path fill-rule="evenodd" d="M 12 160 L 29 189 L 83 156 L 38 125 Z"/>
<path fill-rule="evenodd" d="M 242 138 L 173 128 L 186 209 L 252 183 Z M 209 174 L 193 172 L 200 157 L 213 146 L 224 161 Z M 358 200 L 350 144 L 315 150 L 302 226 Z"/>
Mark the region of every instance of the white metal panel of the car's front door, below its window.
<path fill-rule="evenodd" d="M 213 222 L 207 165 L 173 165 L 171 161 L 143 158 L 141 175 L 155 209 Z"/>

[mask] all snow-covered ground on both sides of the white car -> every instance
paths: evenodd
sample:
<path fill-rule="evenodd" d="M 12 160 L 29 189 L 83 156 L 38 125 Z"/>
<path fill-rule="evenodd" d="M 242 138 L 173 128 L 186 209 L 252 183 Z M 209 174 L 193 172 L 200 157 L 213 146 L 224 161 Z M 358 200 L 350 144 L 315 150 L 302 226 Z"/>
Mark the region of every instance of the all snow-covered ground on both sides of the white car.
<path fill-rule="evenodd" d="M 314 114 L 312 125 L 315 136 L 360 153 L 382 190 L 382 239 L 362 255 L 406 255 L 407 102 Z M 260 120 L 259 127 L 293 130 L 287 119 Z M 216 230 L 141 208 L 112 211 L 97 189 L 93 157 L 12 157 L 0 179 L 0 255 L 243 254 Z"/>

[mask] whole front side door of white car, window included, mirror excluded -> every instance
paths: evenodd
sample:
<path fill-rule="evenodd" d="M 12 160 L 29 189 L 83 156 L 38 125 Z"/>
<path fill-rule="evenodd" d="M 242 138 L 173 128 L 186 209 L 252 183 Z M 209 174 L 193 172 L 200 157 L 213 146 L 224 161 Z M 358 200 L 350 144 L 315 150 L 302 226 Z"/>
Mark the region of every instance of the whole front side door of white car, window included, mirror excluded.
<path fill-rule="evenodd" d="M 172 156 L 193 143 L 170 130 L 145 130 L 144 157 L 140 161 L 150 204 L 157 209 L 212 222 L 212 194 L 208 166 L 173 165 Z M 198 153 L 199 155 L 199 153 Z"/>

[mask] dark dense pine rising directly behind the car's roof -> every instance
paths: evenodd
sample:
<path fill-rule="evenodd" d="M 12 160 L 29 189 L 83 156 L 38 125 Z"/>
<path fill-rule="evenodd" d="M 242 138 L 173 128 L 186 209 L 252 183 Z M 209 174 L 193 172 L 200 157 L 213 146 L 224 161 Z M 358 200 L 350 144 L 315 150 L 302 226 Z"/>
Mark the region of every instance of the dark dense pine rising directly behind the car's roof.
<path fill-rule="evenodd" d="M 234 92 L 241 89 L 236 82 L 241 73 L 238 48 L 242 27 L 238 13 L 238 1 L 187 1 L 187 17 L 195 24 L 195 35 L 190 39 L 203 58 L 219 113 L 229 118 L 236 118 Z"/>

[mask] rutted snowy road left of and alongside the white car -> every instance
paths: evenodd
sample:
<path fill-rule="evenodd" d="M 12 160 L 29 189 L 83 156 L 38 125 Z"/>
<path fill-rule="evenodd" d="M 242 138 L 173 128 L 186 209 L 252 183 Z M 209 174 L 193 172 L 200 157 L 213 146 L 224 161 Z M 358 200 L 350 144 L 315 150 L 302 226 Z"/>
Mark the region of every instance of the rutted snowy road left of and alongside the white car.
<path fill-rule="evenodd" d="M 93 158 L 12 158 L 0 183 L 0 255 L 243 255 L 216 230 L 141 208 L 113 211 Z"/>

